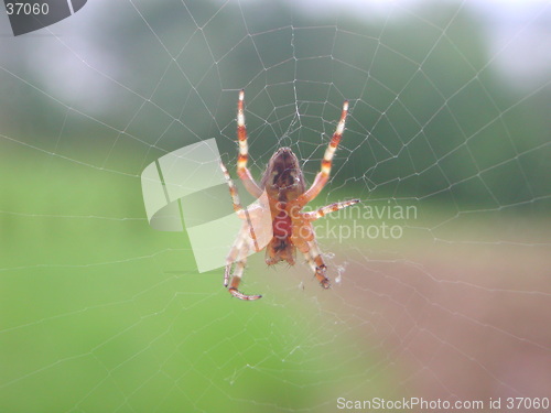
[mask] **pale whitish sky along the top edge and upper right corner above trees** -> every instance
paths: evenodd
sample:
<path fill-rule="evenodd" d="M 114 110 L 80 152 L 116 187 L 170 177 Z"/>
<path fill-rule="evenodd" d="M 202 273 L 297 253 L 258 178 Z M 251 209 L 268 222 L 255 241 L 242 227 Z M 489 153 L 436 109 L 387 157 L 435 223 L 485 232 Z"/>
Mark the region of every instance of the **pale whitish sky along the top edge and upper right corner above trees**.
<path fill-rule="evenodd" d="M 256 1 L 256 0 L 246 0 Z M 430 0 L 284 0 L 310 13 L 349 10 L 366 19 L 399 15 Z M 504 76 L 520 88 L 549 81 L 551 0 L 432 0 L 463 4 L 486 22 L 489 54 Z"/>

